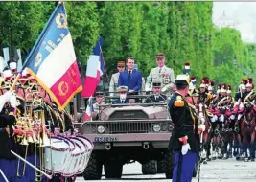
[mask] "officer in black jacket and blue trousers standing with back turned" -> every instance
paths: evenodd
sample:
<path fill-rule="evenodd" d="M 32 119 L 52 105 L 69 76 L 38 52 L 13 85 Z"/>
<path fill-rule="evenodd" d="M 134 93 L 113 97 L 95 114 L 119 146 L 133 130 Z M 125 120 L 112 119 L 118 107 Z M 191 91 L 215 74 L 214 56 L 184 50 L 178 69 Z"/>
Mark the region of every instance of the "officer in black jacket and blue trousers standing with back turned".
<path fill-rule="evenodd" d="M 169 145 L 175 155 L 173 182 L 192 181 L 200 150 L 199 134 L 205 129 L 199 124 L 195 109 L 185 100 L 189 83 L 188 75 L 178 75 L 175 79 L 176 91 L 169 102 L 169 112 L 175 125 Z"/>

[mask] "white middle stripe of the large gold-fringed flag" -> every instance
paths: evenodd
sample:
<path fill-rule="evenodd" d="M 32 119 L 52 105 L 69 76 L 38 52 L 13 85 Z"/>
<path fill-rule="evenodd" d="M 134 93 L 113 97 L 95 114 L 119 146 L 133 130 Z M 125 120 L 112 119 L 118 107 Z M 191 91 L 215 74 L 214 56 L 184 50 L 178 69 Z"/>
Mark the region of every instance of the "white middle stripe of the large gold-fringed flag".
<path fill-rule="evenodd" d="M 76 61 L 70 33 L 58 44 L 54 51 L 41 64 L 37 77 L 51 88 Z"/>

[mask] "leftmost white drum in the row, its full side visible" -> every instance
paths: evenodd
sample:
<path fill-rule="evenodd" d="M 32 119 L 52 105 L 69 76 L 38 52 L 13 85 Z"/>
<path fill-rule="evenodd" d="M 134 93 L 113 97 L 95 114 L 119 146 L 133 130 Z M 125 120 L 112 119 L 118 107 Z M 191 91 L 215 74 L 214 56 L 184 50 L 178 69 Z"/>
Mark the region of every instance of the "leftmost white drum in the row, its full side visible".
<path fill-rule="evenodd" d="M 65 168 L 65 161 L 69 156 L 69 143 L 60 137 L 52 137 L 50 146 L 45 147 L 45 164 L 46 171 L 60 173 Z"/>

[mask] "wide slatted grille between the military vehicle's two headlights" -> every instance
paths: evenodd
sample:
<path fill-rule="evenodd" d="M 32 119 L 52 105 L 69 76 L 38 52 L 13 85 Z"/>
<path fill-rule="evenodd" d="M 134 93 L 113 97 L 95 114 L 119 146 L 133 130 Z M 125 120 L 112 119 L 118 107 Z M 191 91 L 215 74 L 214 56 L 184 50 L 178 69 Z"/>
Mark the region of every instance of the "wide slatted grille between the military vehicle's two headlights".
<path fill-rule="evenodd" d="M 136 123 L 110 123 L 105 125 L 109 134 L 116 133 L 148 133 L 151 131 L 151 123 L 136 122 Z"/>

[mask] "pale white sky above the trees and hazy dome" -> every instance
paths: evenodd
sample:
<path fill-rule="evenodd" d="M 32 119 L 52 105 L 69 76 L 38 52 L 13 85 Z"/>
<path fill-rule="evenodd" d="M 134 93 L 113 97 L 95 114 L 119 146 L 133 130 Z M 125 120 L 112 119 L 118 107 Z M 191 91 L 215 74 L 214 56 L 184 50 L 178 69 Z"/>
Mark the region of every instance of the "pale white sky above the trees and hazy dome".
<path fill-rule="evenodd" d="M 236 23 L 249 23 L 255 34 L 256 42 L 256 2 L 214 2 L 213 21 L 225 14 Z"/>

